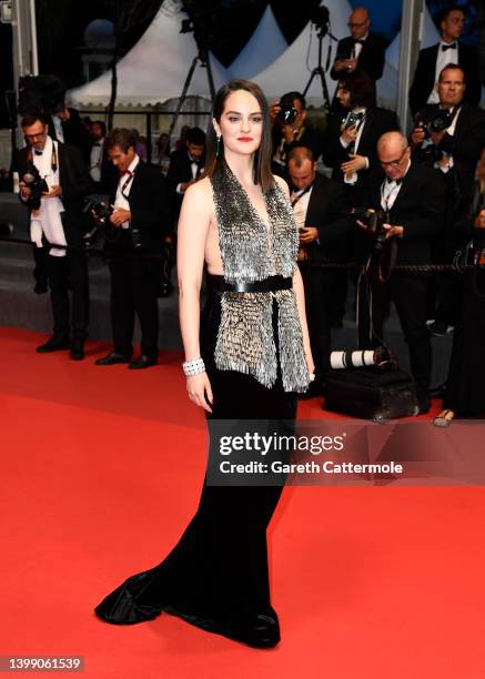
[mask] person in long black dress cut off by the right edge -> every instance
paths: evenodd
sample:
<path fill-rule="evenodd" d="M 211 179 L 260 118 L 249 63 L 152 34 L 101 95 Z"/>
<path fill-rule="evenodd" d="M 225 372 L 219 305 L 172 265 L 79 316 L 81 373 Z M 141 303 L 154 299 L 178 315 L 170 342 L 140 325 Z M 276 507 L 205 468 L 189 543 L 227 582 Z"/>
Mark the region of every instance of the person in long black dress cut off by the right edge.
<path fill-rule="evenodd" d="M 472 215 L 458 229 L 471 242 L 469 263 L 475 268 L 464 274 L 443 411 L 433 420 L 436 427 L 448 427 L 455 417 L 485 416 L 485 151 Z"/>

